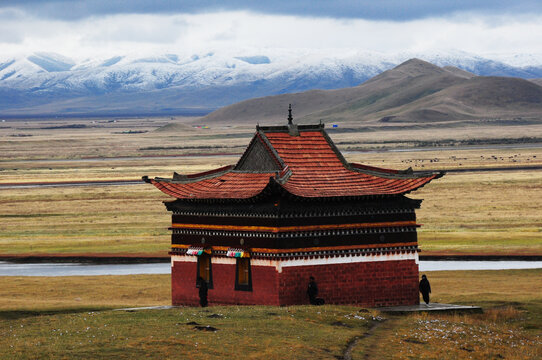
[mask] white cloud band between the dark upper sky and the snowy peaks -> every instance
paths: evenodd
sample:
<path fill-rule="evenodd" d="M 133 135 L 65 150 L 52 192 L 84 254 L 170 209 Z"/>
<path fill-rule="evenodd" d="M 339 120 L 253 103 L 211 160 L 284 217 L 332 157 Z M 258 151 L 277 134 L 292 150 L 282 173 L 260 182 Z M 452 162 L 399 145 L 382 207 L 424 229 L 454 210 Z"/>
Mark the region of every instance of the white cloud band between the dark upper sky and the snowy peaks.
<path fill-rule="evenodd" d="M 85 58 L 119 53 L 195 53 L 251 48 L 475 54 L 542 53 L 542 15 L 479 16 L 412 21 L 341 20 L 246 11 L 209 14 L 118 14 L 78 21 L 0 13 L 7 53 L 57 52 Z"/>

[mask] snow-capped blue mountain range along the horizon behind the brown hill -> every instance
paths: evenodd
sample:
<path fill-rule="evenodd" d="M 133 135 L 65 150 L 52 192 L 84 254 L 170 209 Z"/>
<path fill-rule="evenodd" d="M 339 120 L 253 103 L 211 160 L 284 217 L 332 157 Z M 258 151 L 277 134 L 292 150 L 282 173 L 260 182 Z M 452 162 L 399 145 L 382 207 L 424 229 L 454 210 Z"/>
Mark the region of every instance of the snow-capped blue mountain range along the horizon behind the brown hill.
<path fill-rule="evenodd" d="M 477 75 L 541 78 L 540 56 L 262 51 L 0 57 L 0 115 L 206 112 L 252 97 L 357 86 L 412 57 Z"/>

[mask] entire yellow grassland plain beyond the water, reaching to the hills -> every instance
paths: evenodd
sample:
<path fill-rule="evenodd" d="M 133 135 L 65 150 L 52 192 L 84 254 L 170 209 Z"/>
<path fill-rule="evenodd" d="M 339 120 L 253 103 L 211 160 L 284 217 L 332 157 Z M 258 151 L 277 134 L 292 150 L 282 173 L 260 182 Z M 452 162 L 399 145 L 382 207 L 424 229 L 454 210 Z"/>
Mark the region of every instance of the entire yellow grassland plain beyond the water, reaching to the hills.
<path fill-rule="evenodd" d="M 252 126 L 198 129 L 184 121 L 162 118 L 3 123 L 0 254 L 165 255 L 170 217 L 162 201 L 170 198 L 149 185 L 1 185 L 136 180 L 142 175 L 170 177 L 173 171 L 201 172 L 235 163 L 254 132 Z M 155 131 L 170 122 L 172 126 Z M 84 127 L 62 127 L 66 123 Z M 339 129 L 348 131 L 330 129 L 339 148 L 349 161 L 373 166 L 415 170 L 542 166 L 542 147 L 521 148 L 522 144 L 514 147 L 513 143 L 502 147 L 493 143 L 499 139 L 542 137 L 542 125 L 403 130 L 385 126 L 360 130 L 359 124 L 356 130 L 355 124 L 344 126 Z M 449 144 L 450 139 L 474 139 L 482 146 L 411 149 L 413 142 L 445 140 Z M 484 147 L 484 139 L 493 141 L 491 146 Z M 398 149 L 403 151 L 389 151 Z M 542 254 L 542 202 L 537 201 L 541 185 L 541 170 L 448 173 L 408 195 L 424 199 L 418 212 L 418 221 L 424 225 L 419 232 L 421 248 L 425 253 Z"/>

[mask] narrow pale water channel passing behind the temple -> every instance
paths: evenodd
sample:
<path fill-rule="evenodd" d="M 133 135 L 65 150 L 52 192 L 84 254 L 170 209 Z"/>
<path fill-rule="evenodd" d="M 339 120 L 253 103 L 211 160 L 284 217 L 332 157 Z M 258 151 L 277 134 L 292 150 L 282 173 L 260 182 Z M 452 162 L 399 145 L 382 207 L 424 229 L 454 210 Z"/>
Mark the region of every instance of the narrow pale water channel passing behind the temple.
<path fill-rule="evenodd" d="M 420 272 L 453 270 L 509 270 L 542 269 L 542 261 L 420 261 Z M 0 261 L 0 276 L 95 276 L 169 274 L 171 265 L 151 264 L 81 264 L 32 263 L 20 264 Z"/>

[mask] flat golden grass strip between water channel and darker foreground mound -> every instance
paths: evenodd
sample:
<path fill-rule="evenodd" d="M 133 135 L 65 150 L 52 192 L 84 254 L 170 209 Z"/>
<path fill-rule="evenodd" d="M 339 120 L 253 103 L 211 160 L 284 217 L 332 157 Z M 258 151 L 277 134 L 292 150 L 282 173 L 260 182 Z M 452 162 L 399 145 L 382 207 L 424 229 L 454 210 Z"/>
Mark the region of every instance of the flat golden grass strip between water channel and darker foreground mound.
<path fill-rule="evenodd" d="M 542 309 L 542 269 L 426 274 L 432 302 Z M 170 286 L 169 275 L 0 277 L 0 310 L 168 305 Z"/>

